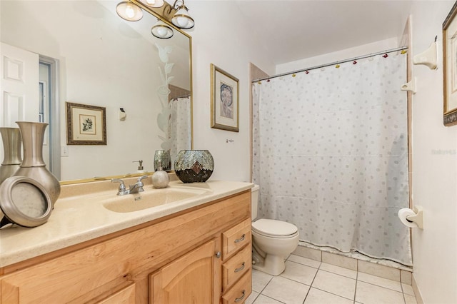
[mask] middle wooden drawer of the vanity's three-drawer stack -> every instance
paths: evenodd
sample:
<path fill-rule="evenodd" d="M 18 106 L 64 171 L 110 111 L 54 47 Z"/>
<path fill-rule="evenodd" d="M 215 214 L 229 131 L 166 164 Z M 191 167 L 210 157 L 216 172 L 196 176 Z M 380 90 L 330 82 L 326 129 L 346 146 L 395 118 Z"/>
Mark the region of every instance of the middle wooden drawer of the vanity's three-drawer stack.
<path fill-rule="evenodd" d="M 222 265 L 222 289 L 225 292 L 252 266 L 252 249 L 247 245 Z"/>

